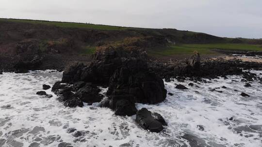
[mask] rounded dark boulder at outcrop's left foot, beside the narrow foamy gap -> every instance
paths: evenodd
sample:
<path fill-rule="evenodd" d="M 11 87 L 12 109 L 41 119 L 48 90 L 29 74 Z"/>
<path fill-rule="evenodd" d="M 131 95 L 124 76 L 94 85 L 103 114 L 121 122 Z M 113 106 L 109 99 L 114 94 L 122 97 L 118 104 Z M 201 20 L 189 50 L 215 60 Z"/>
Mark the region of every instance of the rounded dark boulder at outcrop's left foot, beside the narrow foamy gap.
<path fill-rule="evenodd" d="M 103 96 L 99 94 L 100 89 L 91 83 L 86 83 L 85 86 L 80 88 L 75 95 L 81 99 L 84 103 L 97 103 L 103 99 Z"/>

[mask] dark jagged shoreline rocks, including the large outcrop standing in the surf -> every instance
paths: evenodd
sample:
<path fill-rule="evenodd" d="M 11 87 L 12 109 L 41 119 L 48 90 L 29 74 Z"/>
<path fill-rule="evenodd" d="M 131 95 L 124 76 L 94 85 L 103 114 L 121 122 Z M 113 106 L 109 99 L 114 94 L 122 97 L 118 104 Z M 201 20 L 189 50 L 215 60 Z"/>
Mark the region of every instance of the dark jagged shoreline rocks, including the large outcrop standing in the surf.
<path fill-rule="evenodd" d="M 245 82 L 246 86 L 251 86 L 249 82 L 253 80 L 262 83 L 262 78 L 258 75 L 244 71 L 248 69 L 262 70 L 262 64 L 241 60 L 201 60 L 198 53 L 187 60 L 160 62 L 147 59 L 147 54 L 143 50 L 105 48 L 98 51 L 87 65 L 75 63 L 68 66 L 63 73 L 62 81 L 56 82 L 52 91 L 58 96 L 58 101 L 65 106 L 82 107 L 83 103 L 89 105 L 99 103 L 99 107 L 110 108 L 118 116 L 136 114 L 136 122 L 142 128 L 151 132 L 161 132 L 166 125 L 164 118 L 160 114 L 153 113 L 154 116 L 144 108 L 137 110 L 135 103 L 163 102 L 167 96 L 163 79 L 171 81 L 176 78 L 180 82 L 189 79 L 194 83 L 205 82 L 203 78 L 227 78 L 227 75 L 236 74 L 243 76 L 242 82 Z M 193 83 L 189 86 L 193 86 Z M 98 86 L 108 87 L 107 98 L 103 98 Z M 183 85 L 176 88 L 186 89 Z M 241 95 L 249 96 L 246 93 Z"/>

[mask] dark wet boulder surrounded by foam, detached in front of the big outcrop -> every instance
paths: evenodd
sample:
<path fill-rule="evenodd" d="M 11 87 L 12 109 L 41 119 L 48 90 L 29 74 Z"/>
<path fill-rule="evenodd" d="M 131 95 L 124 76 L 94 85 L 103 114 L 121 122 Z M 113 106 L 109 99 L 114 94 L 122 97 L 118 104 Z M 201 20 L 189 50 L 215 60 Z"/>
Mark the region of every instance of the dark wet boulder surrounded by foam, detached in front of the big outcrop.
<path fill-rule="evenodd" d="M 135 120 L 142 128 L 150 132 L 161 132 L 164 129 L 162 123 L 156 120 L 146 108 L 137 111 Z"/>

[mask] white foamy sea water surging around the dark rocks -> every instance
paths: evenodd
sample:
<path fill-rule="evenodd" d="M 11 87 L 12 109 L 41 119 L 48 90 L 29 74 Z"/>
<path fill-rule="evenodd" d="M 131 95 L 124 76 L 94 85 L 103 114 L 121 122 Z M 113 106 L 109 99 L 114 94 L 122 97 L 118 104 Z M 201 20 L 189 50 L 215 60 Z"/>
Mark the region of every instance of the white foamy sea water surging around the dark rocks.
<path fill-rule="evenodd" d="M 146 107 L 167 121 L 163 132 L 152 133 L 141 129 L 135 116 L 115 116 L 96 104 L 66 108 L 50 89 L 46 90 L 53 94 L 50 99 L 35 94 L 43 84 L 60 81 L 62 73 L 3 73 L 0 147 L 190 147 L 181 137 L 184 134 L 197 138 L 200 144 L 195 147 L 262 147 L 262 84 L 254 81 L 245 88 L 240 76 L 228 77 L 193 87 L 187 86 L 187 80 L 165 82 L 173 96 L 156 105 L 136 104 L 137 109 Z M 189 89 L 176 89 L 177 84 Z M 241 92 L 250 97 L 240 96 Z"/>

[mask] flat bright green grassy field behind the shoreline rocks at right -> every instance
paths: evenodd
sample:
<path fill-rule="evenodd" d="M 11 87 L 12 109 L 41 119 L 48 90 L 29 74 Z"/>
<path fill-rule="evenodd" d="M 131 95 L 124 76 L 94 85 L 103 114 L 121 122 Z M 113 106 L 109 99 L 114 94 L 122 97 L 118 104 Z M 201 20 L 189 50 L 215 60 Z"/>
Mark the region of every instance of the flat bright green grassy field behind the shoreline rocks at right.
<path fill-rule="evenodd" d="M 253 44 L 179 44 L 151 49 L 148 50 L 148 54 L 157 56 L 172 56 L 179 54 L 192 54 L 194 51 L 197 51 L 200 54 L 218 54 L 212 49 L 262 51 L 262 46 Z"/>

